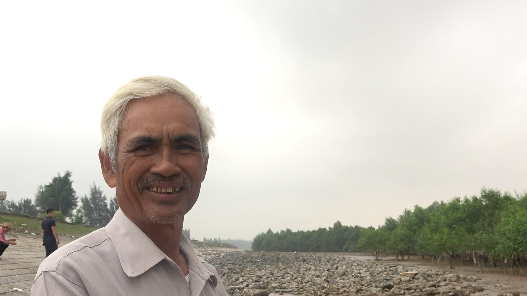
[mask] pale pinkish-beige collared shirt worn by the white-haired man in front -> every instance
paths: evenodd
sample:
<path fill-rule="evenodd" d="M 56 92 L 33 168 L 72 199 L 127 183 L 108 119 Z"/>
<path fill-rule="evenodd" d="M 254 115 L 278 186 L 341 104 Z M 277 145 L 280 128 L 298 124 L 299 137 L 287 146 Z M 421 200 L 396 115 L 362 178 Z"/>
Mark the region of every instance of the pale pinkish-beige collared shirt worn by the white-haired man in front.
<path fill-rule="evenodd" d="M 179 266 L 119 209 L 104 228 L 55 251 L 38 268 L 31 295 L 227 295 L 217 272 L 182 236 Z M 189 289 L 190 287 L 190 289 Z"/>

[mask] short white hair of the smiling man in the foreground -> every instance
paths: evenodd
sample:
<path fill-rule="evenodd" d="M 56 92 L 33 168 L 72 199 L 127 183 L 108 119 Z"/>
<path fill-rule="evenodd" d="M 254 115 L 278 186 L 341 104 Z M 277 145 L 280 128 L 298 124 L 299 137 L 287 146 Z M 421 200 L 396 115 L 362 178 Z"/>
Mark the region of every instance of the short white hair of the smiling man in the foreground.
<path fill-rule="evenodd" d="M 214 119 L 209 107 L 205 106 L 185 84 L 164 76 L 136 78 L 119 88 L 106 102 L 101 115 L 101 150 L 110 157 L 112 168 L 117 168 L 117 141 L 121 120 L 126 105 L 135 99 L 172 94 L 186 100 L 196 111 L 200 127 L 200 140 L 203 155 L 209 154 L 208 142 L 214 137 Z"/>

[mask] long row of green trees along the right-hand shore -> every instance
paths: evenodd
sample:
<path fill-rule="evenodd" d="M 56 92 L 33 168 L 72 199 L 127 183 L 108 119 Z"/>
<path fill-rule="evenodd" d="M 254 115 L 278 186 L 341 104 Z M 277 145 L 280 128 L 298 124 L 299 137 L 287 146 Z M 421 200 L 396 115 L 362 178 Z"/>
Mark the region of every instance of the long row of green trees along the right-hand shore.
<path fill-rule="evenodd" d="M 410 254 L 470 261 L 477 266 L 527 265 L 527 193 L 501 193 L 483 188 L 479 196 L 414 206 L 377 228 L 343 226 L 329 229 L 258 234 L 255 251 L 327 251 Z"/>

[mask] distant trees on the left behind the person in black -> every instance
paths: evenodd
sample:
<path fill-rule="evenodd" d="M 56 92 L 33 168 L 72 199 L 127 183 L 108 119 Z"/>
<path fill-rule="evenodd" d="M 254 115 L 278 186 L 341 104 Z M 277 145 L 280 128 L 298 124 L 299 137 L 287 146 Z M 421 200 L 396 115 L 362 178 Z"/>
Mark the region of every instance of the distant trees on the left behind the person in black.
<path fill-rule="evenodd" d="M 37 188 L 34 201 L 23 198 L 18 202 L 0 201 L 0 212 L 44 217 L 46 209 L 55 209 L 55 219 L 62 222 L 103 227 L 110 222 L 119 208 L 117 197 L 109 201 L 101 188 L 90 185 L 90 193 L 80 198 L 73 189 L 72 173 L 58 173 L 51 182 Z"/>

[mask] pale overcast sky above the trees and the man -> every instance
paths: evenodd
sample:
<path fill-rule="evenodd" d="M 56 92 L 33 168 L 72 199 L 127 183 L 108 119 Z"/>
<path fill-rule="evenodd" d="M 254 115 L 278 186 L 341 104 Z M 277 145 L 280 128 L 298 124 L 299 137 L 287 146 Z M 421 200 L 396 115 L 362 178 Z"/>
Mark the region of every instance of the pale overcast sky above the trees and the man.
<path fill-rule="evenodd" d="M 190 2 L 190 1 L 189 1 Z M 112 4 L 113 3 L 113 4 Z M 527 190 L 525 1 L 3 1 L 0 190 L 100 173 L 99 119 L 166 75 L 215 114 L 194 238 L 377 227 Z"/>

